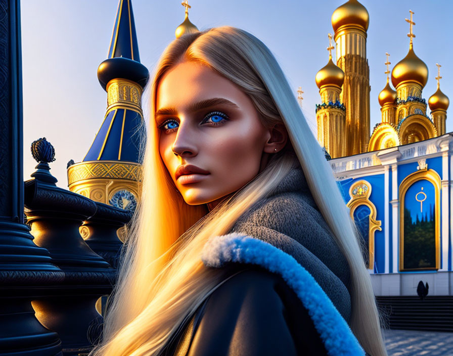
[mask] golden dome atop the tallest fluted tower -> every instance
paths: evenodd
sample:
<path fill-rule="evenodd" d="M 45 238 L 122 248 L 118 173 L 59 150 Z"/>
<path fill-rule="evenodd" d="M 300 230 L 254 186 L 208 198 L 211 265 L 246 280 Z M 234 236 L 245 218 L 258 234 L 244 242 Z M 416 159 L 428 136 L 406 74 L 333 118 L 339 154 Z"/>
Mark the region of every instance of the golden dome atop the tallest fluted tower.
<path fill-rule="evenodd" d="M 346 4 L 338 7 L 332 14 L 332 27 L 334 31 L 342 26 L 358 26 L 366 31 L 370 23 L 370 15 L 365 6 L 357 0 L 349 0 Z"/>

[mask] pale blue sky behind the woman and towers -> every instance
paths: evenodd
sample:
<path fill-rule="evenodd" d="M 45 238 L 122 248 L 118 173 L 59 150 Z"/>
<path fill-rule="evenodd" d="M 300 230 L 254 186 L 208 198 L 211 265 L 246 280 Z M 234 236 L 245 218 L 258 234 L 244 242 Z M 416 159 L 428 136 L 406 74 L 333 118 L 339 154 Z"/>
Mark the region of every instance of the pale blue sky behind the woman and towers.
<path fill-rule="evenodd" d="M 141 62 L 153 73 L 174 30 L 184 20 L 182 0 L 131 0 Z M 453 2 L 446 0 L 361 0 L 370 14 L 367 57 L 370 66 L 370 128 L 381 122 L 378 95 L 386 83 L 385 53 L 390 67 L 409 50 L 409 10 L 414 14 L 414 51 L 426 63 L 423 97 L 436 90 L 436 63 L 441 90 L 453 100 L 453 53 L 449 24 Z M 274 53 L 290 85 L 304 91 L 302 110 L 316 135 L 314 82 L 328 61 L 331 16 L 345 0 L 189 0 L 190 20 L 200 30 L 230 25 L 249 31 Z M 67 188 L 66 165 L 80 162 L 104 119 L 107 93 L 96 76 L 107 58 L 118 0 L 22 0 L 22 73 L 24 106 L 24 180 L 37 162 L 30 144 L 41 137 L 52 143 L 56 161 L 51 173 Z M 335 59 L 335 58 L 334 58 Z M 429 114 L 429 109 L 428 109 Z M 147 120 L 147 118 L 145 118 Z M 447 111 L 446 131 L 453 131 Z M 371 132 L 370 132 L 371 133 Z"/>

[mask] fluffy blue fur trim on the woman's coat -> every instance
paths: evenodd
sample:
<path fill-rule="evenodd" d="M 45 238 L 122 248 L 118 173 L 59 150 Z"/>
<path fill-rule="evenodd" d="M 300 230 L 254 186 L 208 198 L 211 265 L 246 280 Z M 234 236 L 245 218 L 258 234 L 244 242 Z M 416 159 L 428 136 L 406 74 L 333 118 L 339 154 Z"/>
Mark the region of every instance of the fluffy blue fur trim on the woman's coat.
<path fill-rule="evenodd" d="M 232 233 L 210 238 L 203 248 L 201 259 L 208 267 L 221 267 L 231 261 L 257 264 L 278 273 L 308 310 L 330 356 L 365 354 L 327 294 L 288 253 L 262 240 Z"/>

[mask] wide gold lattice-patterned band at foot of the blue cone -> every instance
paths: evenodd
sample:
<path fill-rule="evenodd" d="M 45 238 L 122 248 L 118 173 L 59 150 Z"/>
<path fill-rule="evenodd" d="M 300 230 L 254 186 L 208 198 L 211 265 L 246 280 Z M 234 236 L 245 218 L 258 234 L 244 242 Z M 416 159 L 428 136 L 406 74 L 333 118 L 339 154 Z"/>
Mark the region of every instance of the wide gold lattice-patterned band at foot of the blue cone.
<path fill-rule="evenodd" d="M 113 178 L 140 182 L 142 165 L 135 162 L 86 161 L 73 164 L 68 168 L 68 185 L 94 179 Z"/>

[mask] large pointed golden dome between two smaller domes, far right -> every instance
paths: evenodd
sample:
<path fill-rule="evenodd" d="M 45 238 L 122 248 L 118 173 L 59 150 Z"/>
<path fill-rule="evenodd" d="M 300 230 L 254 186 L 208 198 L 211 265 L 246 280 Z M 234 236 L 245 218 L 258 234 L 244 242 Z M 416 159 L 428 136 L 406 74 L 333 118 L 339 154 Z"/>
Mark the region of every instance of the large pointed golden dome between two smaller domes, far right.
<path fill-rule="evenodd" d="M 392 84 L 396 88 L 399 84 L 406 81 L 415 81 L 425 86 L 428 80 L 428 67 L 414 53 L 414 49 L 409 47 L 407 55 L 393 67 Z"/>

